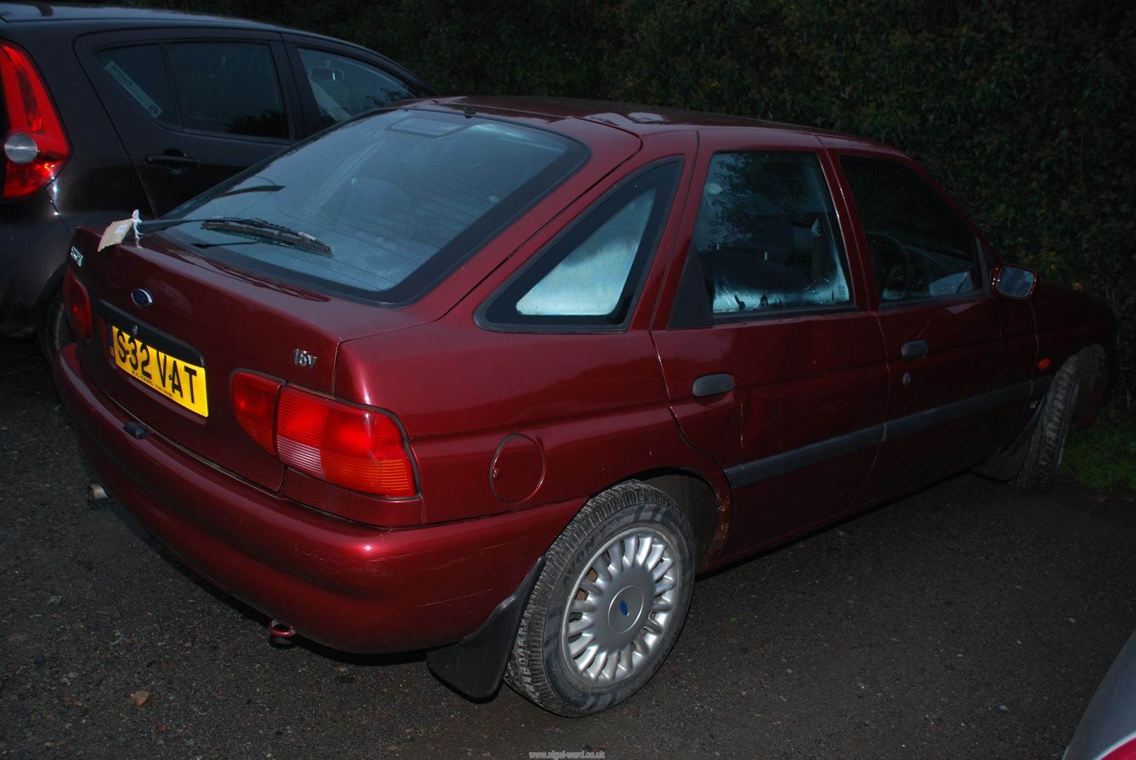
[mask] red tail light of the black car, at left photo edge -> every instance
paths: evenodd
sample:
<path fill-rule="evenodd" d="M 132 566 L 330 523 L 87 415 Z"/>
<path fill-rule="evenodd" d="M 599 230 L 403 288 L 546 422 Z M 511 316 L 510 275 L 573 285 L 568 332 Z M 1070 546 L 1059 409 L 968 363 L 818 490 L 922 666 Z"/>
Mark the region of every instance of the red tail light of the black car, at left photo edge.
<path fill-rule="evenodd" d="M 70 146 L 31 57 L 9 42 L 0 44 L 0 85 L 8 113 L 3 197 L 22 197 L 55 179 Z"/>

